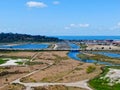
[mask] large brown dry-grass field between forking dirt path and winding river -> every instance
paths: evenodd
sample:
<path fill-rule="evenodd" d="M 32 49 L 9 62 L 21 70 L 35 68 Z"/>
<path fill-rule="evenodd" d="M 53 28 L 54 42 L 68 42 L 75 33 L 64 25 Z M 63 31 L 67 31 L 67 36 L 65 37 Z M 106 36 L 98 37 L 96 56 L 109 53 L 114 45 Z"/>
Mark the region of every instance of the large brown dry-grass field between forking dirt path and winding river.
<path fill-rule="evenodd" d="M 66 57 L 67 52 L 48 52 L 43 53 L 47 57 L 55 58 Z M 43 58 L 43 55 L 39 56 Z M 81 63 L 72 59 L 53 59 L 55 61 L 54 65 L 37 72 L 29 77 L 21 79 L 23 82 L 75 82 L 84 79 L 91 79 L 101 73 L 100 66 L 95 66 L 94 64 Z M 96 69 L 87 73 L 86 69 L 88 66 L 93 65 Z"/>

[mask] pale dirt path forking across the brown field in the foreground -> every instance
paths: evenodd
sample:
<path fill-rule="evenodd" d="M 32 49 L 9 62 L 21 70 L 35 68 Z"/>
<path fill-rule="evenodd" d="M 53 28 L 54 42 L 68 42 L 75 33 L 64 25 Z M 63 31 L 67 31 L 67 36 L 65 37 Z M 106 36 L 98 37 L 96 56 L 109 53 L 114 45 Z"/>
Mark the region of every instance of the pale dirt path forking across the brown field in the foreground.
<path fill-rule="evenodd" d="M 33 55 L 33 57 L 30 59 L 30 61 L 33 61 L 37 56 L 39 55 L 39 52 L 36 53 L 35 55 Z M 46 69 L 50 66 L 52 66 L 54 63 L 50 63 L 48 66 L 45 66 L 39 70 L 36 70 L 36 71 L 33 71 L 25 76 L 22 76 L 18 79 L 16 79 L 15 81 L 12 81 L 10 84 L 12 83 L 19 83 L 19 84 L 22 84 L 26 87 L 26 90 L 32 90 L 32 87 L 38 87 L 38 86 L 49 86 L 49 85 L 65 85 L 65 86 L 71 86 L 71 87 L 80 87 L 80 88 L 85 88 L 87 90 L 92 90 L 91 88 L 88 87 L 87 85 L 87 82 L 89 80 L 83 80 L 83 81 L 79 81 L 79 82 L 71 82 L 71 83 L 42 83 L 42 82 L 39 82 L 39 83 L 23 83 L 23 82 L 20 82 L 20 79 L 21 78 L 25 78 L 25 77 L 28 77 L 32 74 L 35 74 L 43 69 Z M 6 84 L 7 85 L 7 84 Z M 0 88 L 3 88 L 5 87 L 6 85 L 0 87 Z"/>

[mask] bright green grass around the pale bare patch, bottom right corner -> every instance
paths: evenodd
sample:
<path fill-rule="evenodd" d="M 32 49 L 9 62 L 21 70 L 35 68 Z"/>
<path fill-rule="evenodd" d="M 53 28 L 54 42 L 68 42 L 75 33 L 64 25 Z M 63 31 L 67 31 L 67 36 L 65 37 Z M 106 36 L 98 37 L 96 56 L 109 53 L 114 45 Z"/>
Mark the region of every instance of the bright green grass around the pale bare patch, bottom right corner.
<path fill-rule="evenodd" d="M 108 72 L 109 67 L 104 68 L 101 75 L 89 81 L 89 85 L 95 90 L 120 90 L 120 83 L 114 83 L 113 85 L 110 85 L 108 78 L 101 78 L 104 77 Z"/>

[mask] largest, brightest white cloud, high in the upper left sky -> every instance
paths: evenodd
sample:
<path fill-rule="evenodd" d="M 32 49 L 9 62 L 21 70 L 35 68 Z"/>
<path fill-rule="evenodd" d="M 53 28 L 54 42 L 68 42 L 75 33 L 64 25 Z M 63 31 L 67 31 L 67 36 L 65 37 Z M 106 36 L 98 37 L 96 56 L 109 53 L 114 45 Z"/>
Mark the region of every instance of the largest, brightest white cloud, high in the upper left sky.
<path fill-rule="evenodd" d="M 28 7 L 36 7 L 36 8 L 44 8 L 47 7 L 47 5 L 43 2 L 36 2 L 36 1 L 29 1 L 26 3 Z"/>

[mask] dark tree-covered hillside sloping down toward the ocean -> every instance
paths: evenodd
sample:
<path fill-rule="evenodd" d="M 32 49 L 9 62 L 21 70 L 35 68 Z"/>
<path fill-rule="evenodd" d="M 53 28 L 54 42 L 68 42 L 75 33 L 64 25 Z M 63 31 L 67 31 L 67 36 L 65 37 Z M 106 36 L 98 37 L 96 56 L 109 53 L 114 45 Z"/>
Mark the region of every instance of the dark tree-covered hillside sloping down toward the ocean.
<path fill-rule="evenodd" d="M 47 37 L 40 35 L 28 35 L 18 33 L 0 33 L 0 43 L 12 42 L 59 42 L 62 41 L 55 37 Z"/>

